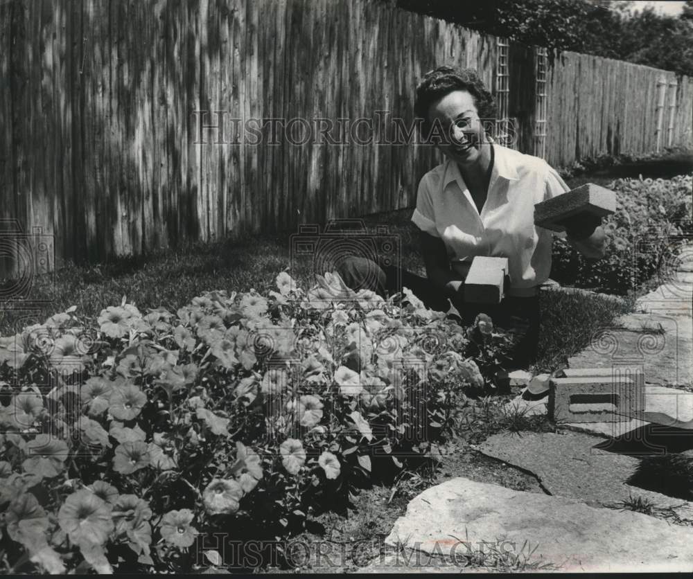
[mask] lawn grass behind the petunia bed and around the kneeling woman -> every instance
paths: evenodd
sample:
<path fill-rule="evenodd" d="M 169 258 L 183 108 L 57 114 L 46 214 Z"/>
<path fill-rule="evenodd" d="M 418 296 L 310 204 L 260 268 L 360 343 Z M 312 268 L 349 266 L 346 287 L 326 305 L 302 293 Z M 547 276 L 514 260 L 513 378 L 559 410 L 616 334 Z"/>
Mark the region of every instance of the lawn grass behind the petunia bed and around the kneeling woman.
<path fill-rule="evenodd" d="M 410 222 L 411 210 L 392 211 L 365 217 L 368 233 L 398 240 L 398 260 L 407 269 L 426 275 L 418 249 L 418 230 Z M 383 233 L 380 233 L 383 235 Z M 255 235 L 243 240 L 198 243 L 148 256 L 116 258 L 100 265 L 74 265 L 54 275 L 34 280 L 32 300 L 44 301 L 35 311 L 0 312 L 0 334 L 19 331 L 28 323 L 76 305 L 78 314 L 96 317 L 108 305 L 121 303 L 123 296 L 141 310 L 163 306 L 175 312 L 193 297 L 213 289 L 266 293 L 274 288 L 279 271 L 288 269 L 301 287 L 315 283 L 320 266 L 313 256 L 297 256 L 290 235 Z M 322 264 L 322 262 L 321 262 Z M 552 370 L 585 348 L 597 330 L 611 324 L 622 308 L 596 295 L 545 292 L 542 298 L 543 326 L 539 344 L 538 370 Z"/>

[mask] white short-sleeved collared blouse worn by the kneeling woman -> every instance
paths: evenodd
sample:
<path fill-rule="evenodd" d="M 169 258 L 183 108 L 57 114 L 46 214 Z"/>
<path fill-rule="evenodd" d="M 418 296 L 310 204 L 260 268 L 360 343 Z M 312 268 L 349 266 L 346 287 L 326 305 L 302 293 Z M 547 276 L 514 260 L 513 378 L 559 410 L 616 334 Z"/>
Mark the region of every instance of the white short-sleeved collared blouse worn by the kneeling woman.
<path fill-rule="evenodd" d="M 457 163 L 446 160 L 421 179 L 412 221 L 443 240 L 450 262 L 508 258 L 509 294 L 522 295 L 523 289 L 544 283 L 551 271 L 554 233 L 534 225 L 534 204 L 570 188 L 543 159 L 489 146 L 495 158 L 481 213 Z"/>

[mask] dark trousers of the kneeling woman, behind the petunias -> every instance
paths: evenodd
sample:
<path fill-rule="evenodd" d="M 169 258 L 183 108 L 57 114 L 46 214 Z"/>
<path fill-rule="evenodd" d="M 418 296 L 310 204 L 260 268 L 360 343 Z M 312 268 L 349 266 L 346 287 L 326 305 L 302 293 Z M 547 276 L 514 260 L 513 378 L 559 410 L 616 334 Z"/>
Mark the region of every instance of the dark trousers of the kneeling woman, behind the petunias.
<path fill-rule="evenodd" d="M 431 310 L 447 312 L 450 303 L 462 317 L 465 325 L 474 323 L 478 314 L 487 314 L 494 326 L 518 332 L 518 343 L 512 353 L 515 366 L 523 367 L 536 360 L 539 337 L 539 297 L 505 297 L 499 304 L 464 303 L 462 295 L 448 300 L 428 278 L 412 274 L 403 267 L 378 265 L 368 258 L 350 257 L 337 265 L 337 273 L 351 289 L 371 289 L 387 299 L 402 287 L 408 287 Z"/>

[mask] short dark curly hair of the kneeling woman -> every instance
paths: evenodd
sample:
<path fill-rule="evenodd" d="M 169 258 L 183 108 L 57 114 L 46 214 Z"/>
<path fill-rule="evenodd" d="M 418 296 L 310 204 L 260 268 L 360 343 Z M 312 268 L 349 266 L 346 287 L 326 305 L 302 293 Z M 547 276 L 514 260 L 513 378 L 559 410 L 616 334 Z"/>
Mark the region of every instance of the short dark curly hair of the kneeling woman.
<path fill-rule="evenodd" d="M 428 71 L 416 87 L 414 113 L 428 124 L 428 109 L 439 98 L 453 91 L 467 91 L 474 98 L 480 118 L 495 118 L 495 100 L 474 69 L 458 70 L 439 66 Z"/>

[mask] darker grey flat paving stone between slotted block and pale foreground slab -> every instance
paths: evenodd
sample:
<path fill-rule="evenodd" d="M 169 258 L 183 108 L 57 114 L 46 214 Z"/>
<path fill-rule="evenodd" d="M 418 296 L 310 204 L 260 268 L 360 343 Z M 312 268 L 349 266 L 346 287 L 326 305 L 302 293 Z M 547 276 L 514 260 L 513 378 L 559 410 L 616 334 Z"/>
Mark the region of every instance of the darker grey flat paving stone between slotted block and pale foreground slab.
<path fill-rule="evenodd" d="M 490 436 L 477 449 L 534 473 L 551 495 L 594 505 L 613 505 L 629 497 L 642 497 L 662 508 L 681 505 L 681 499 L 629 485 L 640 458 L 608 452 L 612 448 L 600 443 L 604 441 L 572 431 L 504 432 Z M 635 451 L 638 449 L 641 456 L 665 452 L 654 444 L 645 449 L 636 446 Z"/>

